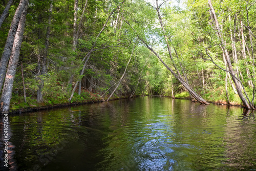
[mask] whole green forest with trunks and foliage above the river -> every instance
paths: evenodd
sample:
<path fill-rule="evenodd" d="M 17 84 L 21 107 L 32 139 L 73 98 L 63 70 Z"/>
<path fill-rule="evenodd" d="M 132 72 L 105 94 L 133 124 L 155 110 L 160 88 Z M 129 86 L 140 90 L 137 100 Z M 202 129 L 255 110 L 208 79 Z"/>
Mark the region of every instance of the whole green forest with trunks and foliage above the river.
<path fill-rule="evenodd" d="M 255 3 L 2 0 L 1 112 L 142 95 L 255 109 Z"/>

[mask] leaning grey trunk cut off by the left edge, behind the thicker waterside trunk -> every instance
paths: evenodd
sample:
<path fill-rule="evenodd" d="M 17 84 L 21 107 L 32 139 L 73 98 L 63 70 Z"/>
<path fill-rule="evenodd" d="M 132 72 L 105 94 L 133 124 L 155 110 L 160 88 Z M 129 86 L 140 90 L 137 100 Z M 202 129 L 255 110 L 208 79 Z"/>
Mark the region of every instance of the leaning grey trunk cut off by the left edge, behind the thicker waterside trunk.
<path fill-rule="evenodd" d="M 7 64 L 12 52 L 12 46 L 13 46 L 13 41 L 14 37 L 17 31 L 17 27 L 19 24 L 19 19 L 22 16 L 25 4 L 27 3 L 27 0 L 20 0 L 20 3 L 15 11 L 15 14 L 12 19 L 11 27 L 7 36 L 4 52 L 2 54 L 2 58 L 0 61 L 0 92 L 3 87 L 4 79 L 5 79 L 5 73 L 7 69 Z"/>

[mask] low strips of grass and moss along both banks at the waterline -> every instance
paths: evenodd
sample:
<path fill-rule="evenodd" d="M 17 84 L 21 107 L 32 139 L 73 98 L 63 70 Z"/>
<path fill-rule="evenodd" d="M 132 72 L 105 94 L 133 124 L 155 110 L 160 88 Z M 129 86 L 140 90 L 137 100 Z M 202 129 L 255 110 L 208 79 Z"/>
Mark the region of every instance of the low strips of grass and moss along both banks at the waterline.
<path fill-rule="evenodd" d="M 164 96 L 170 97 L 168 95 L 164 95 Z M 214 103 L 214 104 L 242 106 L 242 102 L 238 95 L 230 96 L 231 98 L 229 99 L 229 104 L 223 92 L 208 93 L 208 94 L 204 94 L 202 97 L 206 99 L 208 102 Z M 82 90 L 81 95 L 79 96 L 78 93 L 75 93 L 74 97 L 70 102 L 68 101 L 68 98 L 69 98 L 68 94 L 51 94 L 51 95 L 45 96 L 43 102 L 37 103 L 36 97 L 33 97 L 33 96 L 26 97 L 27 102 L 25 102 L 23 96 L 17 96 L 13 94 L 13 98 L 11 100 L 11 105 L 10 105 L 10 113 L 29 112 L 29 111 L 37 111 L 42 109 L 57 108 L 61 106 L 101 102 L 108 99 L 108 96 L 101 97 L 98 93 L 92 93 L 87 90 Z M 114 95 L 110 100 L 115 100 L 120 98 L 129 98 L 129 96 L 118 97 Z M 175 98 L 191 99 L 188 92 L 182 92 L 182 93 L 176 94 Z"/>

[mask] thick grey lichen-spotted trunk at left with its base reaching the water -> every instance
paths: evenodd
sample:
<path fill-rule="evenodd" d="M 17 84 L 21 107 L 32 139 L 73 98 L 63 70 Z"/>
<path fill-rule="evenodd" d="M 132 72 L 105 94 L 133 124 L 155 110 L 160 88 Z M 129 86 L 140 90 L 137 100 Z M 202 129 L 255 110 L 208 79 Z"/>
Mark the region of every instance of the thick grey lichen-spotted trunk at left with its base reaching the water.
<path fill-rule="evenodd" d="M 22 16 L 20 17 L 17 32 L 14 37 L 12 53 L 10 56 L 10 61 L 9 61 L 9 65 L 8 65 L 8 69 L 7 69 L 6 77 L 5 77 L 3 93 L 2 93 L 1 100 L 0 100 L 2 113 L 8 113 L 9 108 L 10 108 L 13 81 L 14 81 L 14 77 L 15 77 L 15 73 L 16 73 L 16 68 L 18 65 L 18 57 L 19 57 L 20 47 L 22 46 L 22 39 L 23 39 L 24 26 L 25 26 L 25 21 L 26 21 L 27 7 L 28 7 L 28 1 L 25 1 L 25 7 L 23 10 Z"/>

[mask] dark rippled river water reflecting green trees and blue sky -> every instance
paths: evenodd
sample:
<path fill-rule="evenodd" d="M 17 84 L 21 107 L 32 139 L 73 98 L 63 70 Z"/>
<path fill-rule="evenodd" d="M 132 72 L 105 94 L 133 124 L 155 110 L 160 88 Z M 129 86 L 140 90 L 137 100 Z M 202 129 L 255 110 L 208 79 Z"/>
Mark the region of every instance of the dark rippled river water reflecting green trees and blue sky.
<path fill-rule="evenodd" d="M 140 97 L 9 120 L 13 170 L 256 170 L 254 113 L 237 107 Z"/>

